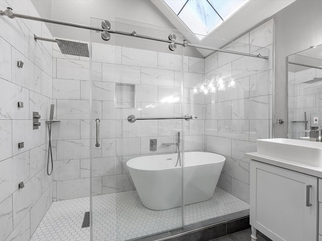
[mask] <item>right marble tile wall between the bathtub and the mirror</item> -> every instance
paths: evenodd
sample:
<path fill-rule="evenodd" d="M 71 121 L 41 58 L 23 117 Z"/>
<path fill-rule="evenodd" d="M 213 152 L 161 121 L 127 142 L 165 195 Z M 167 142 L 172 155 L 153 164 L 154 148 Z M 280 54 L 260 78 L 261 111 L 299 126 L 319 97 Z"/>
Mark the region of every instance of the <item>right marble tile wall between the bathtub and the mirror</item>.
<path fill-rule="evenodd" d="M 268 60 L 215 52 L 205 59 L 205 74 L 223 76 L 225 90 L 205 97 L 205 151 L 226 157 L 218 186 L 249 203 L 249 161 L 256 140 L 271 138 L 273 29 L 269 20 L 225 49 L 269 56 Z M 227 84 L 235 78 L 235 87 Z"/>

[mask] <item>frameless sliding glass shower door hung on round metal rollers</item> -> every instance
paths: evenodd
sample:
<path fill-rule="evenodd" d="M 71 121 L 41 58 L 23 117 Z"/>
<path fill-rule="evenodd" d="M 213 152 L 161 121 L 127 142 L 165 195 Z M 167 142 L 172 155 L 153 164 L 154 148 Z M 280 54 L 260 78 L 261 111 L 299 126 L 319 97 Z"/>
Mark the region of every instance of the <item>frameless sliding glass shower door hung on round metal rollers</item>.
<path fill-rule="evenodd" d="M 92 237 L 129 240 L 183 226 L 187 122 L 164 119 L 185 114 L 183 47 L 135 37 L 168 39 L 173 31 L 109 23 L 131 34 L 90 36 Z M 91 25 L 109 24 L 92 18 Z"/>

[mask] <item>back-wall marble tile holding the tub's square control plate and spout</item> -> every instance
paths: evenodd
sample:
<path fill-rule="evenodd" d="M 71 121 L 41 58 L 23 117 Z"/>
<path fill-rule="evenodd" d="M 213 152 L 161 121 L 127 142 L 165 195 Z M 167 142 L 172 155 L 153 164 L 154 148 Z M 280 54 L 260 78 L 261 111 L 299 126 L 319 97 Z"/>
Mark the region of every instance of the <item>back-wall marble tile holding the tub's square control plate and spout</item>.
<path fill-rule="evenodd" d="M 150 151 L 150 139 L 156 139 L 156 151 Z M 173 143 L 174 137 L 142 137 L 141 138 L 141 154 L 157 154 L 174 152 L 174 146 L 166 146 L 163 143 Z M 135 155 L 139 153 L 131 153 Z"/>

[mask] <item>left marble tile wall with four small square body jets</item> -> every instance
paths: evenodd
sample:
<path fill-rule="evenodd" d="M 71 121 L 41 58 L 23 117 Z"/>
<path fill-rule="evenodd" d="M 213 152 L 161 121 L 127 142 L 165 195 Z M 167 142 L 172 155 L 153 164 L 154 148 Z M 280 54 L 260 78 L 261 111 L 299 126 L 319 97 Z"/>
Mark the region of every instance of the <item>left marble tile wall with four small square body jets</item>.
<path fill-rule="evenodd" d="M 0 9 L 7 7 L 40 17 L 29 0 L 0 0 Z M 52 103 L 52 43 L 36 42 L 34 34 L 52 38 L 40 22 L 0 18 L 0 241 L 29 240 L 52 203 L 44 123 Z M 41 115 L 38 130 L 33 130 L 32 111 Z"/>

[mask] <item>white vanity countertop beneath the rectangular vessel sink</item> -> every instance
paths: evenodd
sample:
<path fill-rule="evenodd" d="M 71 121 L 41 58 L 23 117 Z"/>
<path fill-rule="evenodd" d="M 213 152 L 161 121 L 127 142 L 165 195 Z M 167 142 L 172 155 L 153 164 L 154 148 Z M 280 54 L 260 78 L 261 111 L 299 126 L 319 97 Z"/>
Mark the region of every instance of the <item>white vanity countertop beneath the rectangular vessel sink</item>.
<path fill-rule="evenodd" d="M 263 162 L 273 166 L 289 169 L 295 172 L 300 172 L 310 176 L 322 178 L 322 167 L 314 167 L 311 165 L 305 165 L 298 162 L 292 162 L 284 159 L 273 158 L 273 157 L 258 154 L 257 152 L 245 153 L 245 157 L 248 157 L 258 162 Z"/>

